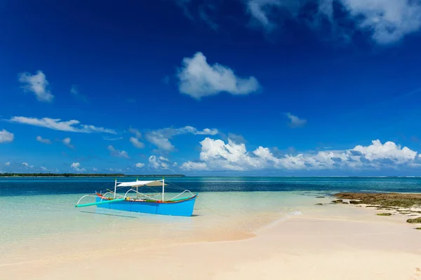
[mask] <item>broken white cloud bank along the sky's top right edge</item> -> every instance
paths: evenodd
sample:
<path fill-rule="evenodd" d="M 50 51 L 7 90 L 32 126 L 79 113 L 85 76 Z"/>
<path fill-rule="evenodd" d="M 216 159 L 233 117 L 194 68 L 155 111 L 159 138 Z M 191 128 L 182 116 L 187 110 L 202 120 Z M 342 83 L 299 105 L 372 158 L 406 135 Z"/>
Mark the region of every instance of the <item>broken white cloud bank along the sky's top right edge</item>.
<path fill-rule="evenodd" d="M 319 13 L 314 13 L 314 20 L 320 20 L 321 17 L 326 16 L 337 31 L 340 30 L 340 25 L 335 22 L 333 5 L 340 4 L 347 10 L 348 18 L 355 22 L 356 28 L 367 31 L 379 44 L 396 43 L 404 36 L 421 29 L 420 1 L 246 0 L 250 17 L 268 32 L 282 25 L 286 15 L 300 20 L 298 12 L 301 8 L 308 8 L 308 6 L 305 7 L 307 3 L 319 6 Z"/>

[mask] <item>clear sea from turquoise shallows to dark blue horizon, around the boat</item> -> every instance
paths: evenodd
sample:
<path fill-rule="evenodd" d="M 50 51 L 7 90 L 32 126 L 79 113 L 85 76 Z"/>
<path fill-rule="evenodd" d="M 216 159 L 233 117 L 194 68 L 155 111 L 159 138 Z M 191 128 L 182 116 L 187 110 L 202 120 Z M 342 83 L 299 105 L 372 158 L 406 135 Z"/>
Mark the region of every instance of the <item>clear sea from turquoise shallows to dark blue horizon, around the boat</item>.
<path fill-rule="evenodd" d="M 114 188 L 114 180 L 0 178 L 0 265 L 101 250 L 245 239 L 314 209 L 315 202 L 330 202 L 335 193 L 421 192 L 418 177 L 167 177 L 171 188 L 199 193 L 194 216 L 74 207 L 83 195 Z"/>

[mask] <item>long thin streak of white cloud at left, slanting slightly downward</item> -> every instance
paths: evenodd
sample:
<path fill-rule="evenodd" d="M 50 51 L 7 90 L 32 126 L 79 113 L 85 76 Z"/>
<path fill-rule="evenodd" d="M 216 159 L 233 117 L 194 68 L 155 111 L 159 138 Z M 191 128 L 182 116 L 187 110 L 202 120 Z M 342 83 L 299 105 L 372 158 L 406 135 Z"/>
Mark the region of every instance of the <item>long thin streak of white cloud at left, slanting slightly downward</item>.
<path fill-rule="evenodd" d="M 114 130 L 104 127 L 95 127 L 94 125 L 81 125 L 79 120 L 62 121 L 59 118 L 27 118 L 27 117 L 13 117 L 9 120 L 13 123 L 22 123 L 25 125 L 34 125 L 36 127 L 46 127 L 51 130 L 61 130 L 66 132 L 103 132 L 109 134 L 117 134 Z"/>

